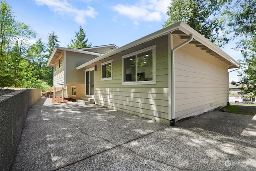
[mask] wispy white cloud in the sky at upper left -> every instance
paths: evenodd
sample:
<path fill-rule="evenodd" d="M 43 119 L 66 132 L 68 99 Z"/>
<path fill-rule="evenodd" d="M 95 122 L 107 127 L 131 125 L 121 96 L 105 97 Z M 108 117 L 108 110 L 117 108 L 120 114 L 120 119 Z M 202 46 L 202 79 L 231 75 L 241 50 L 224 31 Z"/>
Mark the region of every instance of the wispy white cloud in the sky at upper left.
<path fill-rule="evenodd" d="M 85 24 L 86 17 L 95 18 L 98 12 L 94 8 L 87 6 L 87 10 L 79 10 L 64 0 L 35 0 L 38 5 L 46 5 L 53 12 L 61 16 L 72 16 L 78 24 Z"/>

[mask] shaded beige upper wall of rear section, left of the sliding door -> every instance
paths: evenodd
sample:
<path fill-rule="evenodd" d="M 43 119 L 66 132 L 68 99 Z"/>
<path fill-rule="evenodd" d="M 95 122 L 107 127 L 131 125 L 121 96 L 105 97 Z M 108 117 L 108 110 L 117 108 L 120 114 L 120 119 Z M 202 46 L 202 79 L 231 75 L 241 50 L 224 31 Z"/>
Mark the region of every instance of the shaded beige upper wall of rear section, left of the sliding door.
<path fill-rule="evenodd" d="M 76 67 L 98 56 L 66 51 L 66 84 L 84 84 L 84 70 L 76 70 Z"/>

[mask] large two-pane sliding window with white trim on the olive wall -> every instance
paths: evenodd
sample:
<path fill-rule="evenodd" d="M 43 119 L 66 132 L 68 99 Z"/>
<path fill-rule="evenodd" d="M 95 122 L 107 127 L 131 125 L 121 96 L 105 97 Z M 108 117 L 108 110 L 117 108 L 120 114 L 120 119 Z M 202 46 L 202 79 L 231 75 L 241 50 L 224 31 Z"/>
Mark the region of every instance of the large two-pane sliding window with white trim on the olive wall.
<path fill-rule="evenodd" d="M 156 45 L 122 56 L 123 85 L 156 84 Z"/>

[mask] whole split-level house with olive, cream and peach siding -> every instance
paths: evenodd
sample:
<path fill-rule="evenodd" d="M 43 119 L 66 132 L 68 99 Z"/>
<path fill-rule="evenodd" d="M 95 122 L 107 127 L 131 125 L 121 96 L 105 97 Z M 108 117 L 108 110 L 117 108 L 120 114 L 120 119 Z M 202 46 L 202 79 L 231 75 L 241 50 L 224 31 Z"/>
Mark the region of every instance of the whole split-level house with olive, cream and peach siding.
<path fill-rule="evenodd" d="M 56 71 L 54 84 L 67 86 L 69 97 L 86 96 L 98 105 L 171 125 L 226 106 L 228 69 L 241 67 L 184 22 L 105 54 L 81 51 L 55 48 L 48 62 L 58 65 L 56 52 L 66 57 L 60 71 L 65 78 L 57 81 Z M 82 64 L 82 58 L 88 61 Z"/>

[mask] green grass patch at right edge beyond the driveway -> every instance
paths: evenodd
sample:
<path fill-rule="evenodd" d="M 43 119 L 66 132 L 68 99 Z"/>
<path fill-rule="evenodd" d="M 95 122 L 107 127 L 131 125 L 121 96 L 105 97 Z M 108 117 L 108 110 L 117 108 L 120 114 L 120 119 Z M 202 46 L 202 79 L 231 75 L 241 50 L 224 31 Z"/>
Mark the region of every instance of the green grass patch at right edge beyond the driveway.
<path fill-rule="evenodd" d="M 224 107 L 228 109 L 230 113 L 238 113 L 243 115 L 256 115 L 256 105 L 255 104 L 230 104 Z"/>

